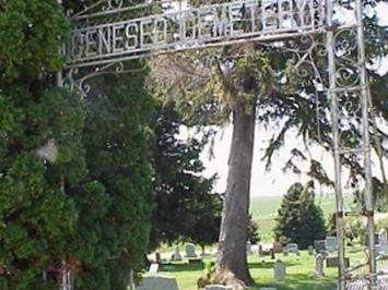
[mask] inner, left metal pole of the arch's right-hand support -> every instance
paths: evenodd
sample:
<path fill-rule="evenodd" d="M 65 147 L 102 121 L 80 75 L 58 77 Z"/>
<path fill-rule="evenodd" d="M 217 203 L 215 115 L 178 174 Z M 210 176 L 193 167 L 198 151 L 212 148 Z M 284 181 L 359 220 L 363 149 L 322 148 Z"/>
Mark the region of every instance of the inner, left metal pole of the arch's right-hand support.
<path fill-rule="evenodd" d="M 336 51 L 334 51 L 334 27 L 333 27 L 333 1 L 327 0 L 327 51 L 328 51 L 328 73 L 329 73 L 329 97 L 332 120 L 332 154 L 334 159 L 336 173 L 336 227 L 338 240 L 338 289 L 345 290 L 345 247 L 344 247 L 344 227 L 343 227 L 343 196 L 341 182 L 341 153 L 339 135 L 338 96 Z"/>

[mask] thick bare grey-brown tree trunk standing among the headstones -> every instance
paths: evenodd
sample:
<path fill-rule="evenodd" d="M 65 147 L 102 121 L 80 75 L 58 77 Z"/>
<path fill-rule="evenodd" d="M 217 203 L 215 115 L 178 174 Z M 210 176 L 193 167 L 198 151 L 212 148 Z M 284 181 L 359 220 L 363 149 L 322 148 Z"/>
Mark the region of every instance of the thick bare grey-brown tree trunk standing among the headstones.
<path fill-rule="evenodd" d="M 216 273 L 220 280 L 250 285 L 247 265 L 250 176 L 254 158 L 256 100 L 233 108 L 233 138 L 219 240 Z"/>

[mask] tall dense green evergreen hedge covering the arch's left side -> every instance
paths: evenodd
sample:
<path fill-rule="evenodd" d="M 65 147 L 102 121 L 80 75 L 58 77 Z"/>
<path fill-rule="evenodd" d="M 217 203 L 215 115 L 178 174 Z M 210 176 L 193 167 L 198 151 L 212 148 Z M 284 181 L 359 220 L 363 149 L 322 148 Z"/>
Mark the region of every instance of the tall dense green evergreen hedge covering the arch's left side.
<path fill-rule="evenodd" d="M 126 289 L 146 252 L 146 72 L 93 101 L 56 88 L 69 28 L 56 0 L 0 0 L 0 289 L 58 289 L 62 258 L 78 289 Z"/>

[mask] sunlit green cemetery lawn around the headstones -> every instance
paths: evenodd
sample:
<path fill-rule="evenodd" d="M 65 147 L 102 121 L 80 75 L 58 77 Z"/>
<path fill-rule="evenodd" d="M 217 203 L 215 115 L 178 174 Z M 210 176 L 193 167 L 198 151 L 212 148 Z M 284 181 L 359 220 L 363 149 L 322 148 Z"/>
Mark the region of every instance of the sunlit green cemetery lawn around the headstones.
<path fill-rule="evenodd" d="M 360 261 L 362 253 L 350 253 L 351 263 Z M 250 290 L 258 290 L 261 287 L 275 287 L 278 290 L 327 290 L 336 288 L 337 268 L 325 268 L 326 277 L 316 279 L 313 277 L 314 256 L 302 251 L 299 256 L 284 256 L 278 254 L 277 258 L 282 259 L 286 265 L 286 278 L 284 281 L 273 279 L 273 264 L 270 257 L 259 261 L 258 256 L 250 256 L 249 268 L 257 286 Z M 210 261 L 211 258 L 205 258 Z M 185 262 L 162 266 L 161 274 L 175 277 L 180 290 L 197 290 L 197 280 L 204 271 L 201 266 L 189 266 Z"/>

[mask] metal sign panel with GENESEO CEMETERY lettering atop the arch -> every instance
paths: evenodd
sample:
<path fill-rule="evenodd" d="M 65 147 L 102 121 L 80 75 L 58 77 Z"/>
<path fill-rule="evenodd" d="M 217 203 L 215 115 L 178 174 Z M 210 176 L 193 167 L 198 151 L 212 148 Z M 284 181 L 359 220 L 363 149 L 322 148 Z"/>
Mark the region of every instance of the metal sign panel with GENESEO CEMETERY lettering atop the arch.
<path fill-rule="evenodd" d="M 105 13 L 74 17 L 79 27 L 72 31 L 66 49 L 69 65 L 94 65 L 153 52 L 236 41 L 281 39 L 315 33 L 325 23 L 324 0 L 243 0 L 180 9 L 173 1 L 161 14 L 138 19 L 121 16 L 117 21 L 89 25 L 91 19 L 121 13 L 122 9 L 110 7 Z"/>

